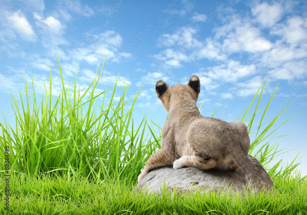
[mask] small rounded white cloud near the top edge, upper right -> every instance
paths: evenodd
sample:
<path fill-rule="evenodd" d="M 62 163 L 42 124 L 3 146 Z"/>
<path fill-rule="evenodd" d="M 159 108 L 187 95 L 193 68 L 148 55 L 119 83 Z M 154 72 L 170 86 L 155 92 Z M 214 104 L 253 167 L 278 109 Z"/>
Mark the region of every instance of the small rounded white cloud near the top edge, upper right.
<path fill-rule="evenodd" d="M 271 27 L 282 18 L 283 8 L 281 4 L 269 5 L 263 2 L 257 4 L 251 11 L 264 27 Z"/>

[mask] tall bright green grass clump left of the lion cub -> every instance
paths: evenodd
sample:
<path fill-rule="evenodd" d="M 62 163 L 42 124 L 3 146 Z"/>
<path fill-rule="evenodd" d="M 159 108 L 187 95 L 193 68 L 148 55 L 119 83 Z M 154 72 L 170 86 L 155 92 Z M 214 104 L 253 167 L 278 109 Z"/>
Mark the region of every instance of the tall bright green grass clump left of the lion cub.
<path fill-rule="evenodd" d="M 10 171 L 74 176 L 98 183 L 111 178 L 136 181 L 143 161 L 157 148 L 156 142 L 146 140 L 145 118 L 138 126 L 133 122 L 132 111 L 140 92 L 125 111 L 129 86 L 124 85 L 119 101 L 114 101 L 116 82 L 107 107 L 103 108 L 107 90 L 95 93 L 101 73 L 81 94 L 76 86 L 76 72 L 73 89 L 65 90 L 60 62 L 59 67 L 63 86 L 59 96 L 51 94 L 51 73 L 40 101 L 33 82 L 33 99 L 30 98 L 26 80 L 26 101 L 20 93 L 18 106 L 17 98 L 12 96 L 16 126 L 6 120 L 0 123 L 0 146 L 10 148 Z M 103 98 L 101 106 L 97 105 L 98 98 Z M 3 150 L 0 157 L 4 158 Z M 1 159 L 2 172 L 4 167 Z"/>

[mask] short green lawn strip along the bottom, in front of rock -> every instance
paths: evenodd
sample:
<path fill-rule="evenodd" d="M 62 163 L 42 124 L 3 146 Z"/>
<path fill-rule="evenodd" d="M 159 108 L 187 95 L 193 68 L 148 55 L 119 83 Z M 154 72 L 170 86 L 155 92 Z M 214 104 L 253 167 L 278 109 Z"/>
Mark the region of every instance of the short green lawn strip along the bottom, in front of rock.
<path fill-rule="evenodd" d="M 172 198 L 134 194 L 134 184 L 67 177 L 10 178 L 10 206 L 1 214 L 307 214 L 307 180 L 272 177 L 275 194 L 230 198 L 219 194 Z M 4 190 L 3 178 L 0 190 Z M 1 199 L 3 194 L 0 193 Z"/>

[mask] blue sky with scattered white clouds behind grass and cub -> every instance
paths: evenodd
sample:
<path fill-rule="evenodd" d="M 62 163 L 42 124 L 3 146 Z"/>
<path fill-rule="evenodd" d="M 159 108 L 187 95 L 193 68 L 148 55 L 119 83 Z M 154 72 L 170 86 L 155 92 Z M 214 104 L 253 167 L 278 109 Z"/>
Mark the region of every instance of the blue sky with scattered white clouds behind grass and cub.
<path fill-rule="evenodd" d="M 201 114 L 212 116 L 219 107 L 214 117 L 233 121 L 269 75 L 259 108 L 278 83 L 266 121 L 296 98 L 277 122 L 301 107 L 276 133 L 291 133 L 277 139 L 285 149 L 279 158 L 292 161 L 302 150 L 299 168 L 307 174 L 305 1 L 2 0 L 0 8 L 0 108 L 10 123 L 15 121 L 10 93 L 25 93 L 25 76 L 28 81 L 33 76 L 42 94 L 51 66 L 52 93 L 61 90 L 57 54 L 67 86 L 76 62 L 81 91 L 95 79 L 104 57 L 98 91 L 114 85 L 119 75 L 118 86 L 130 84 L 128 98 L 133 98 L 145 82 L 134 118 L 146 113 L 160 124 L 167 113 L 155 93 L 158 80 L 172 86 L 197 75 Z"/>

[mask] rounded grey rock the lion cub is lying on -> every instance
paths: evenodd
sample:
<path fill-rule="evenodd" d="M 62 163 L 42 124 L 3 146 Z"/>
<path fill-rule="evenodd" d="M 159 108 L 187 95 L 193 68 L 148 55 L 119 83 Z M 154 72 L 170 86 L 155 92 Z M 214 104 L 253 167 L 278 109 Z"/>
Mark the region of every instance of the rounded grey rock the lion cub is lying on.
<path fill-rule="evenodd" d="M 265 190 L 266 193 L 274 192 L 274 185 L 266 170 L 262 167 L 259 161 L 248 155 L 252 165 L 254 166 L 259 180 L 259 187 Z M 239 169 L 235 170 L 220 170 L 209 169 L 201 170 L 195 167 L 182 169 L 173 169 L 173 167 L 163 167 L 154 169 L 149 172 L 135 187 L 135 191 L 155 192 L 161 194 L 161 187 L 165 187 L 171 193 L 177 188 L 178 193 L 195 193 L 195 191 L 203 190 L 204 192 L 217 192 L 222 189 L 226 192 L 231 187 L 235 194 L 236 191 L 241 192 L 246 186 L 245 175 Z"/>

